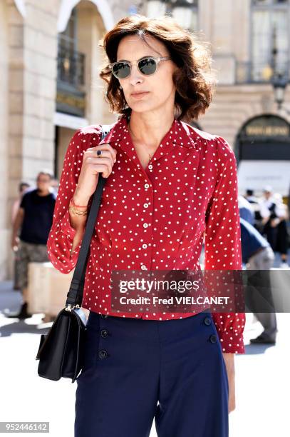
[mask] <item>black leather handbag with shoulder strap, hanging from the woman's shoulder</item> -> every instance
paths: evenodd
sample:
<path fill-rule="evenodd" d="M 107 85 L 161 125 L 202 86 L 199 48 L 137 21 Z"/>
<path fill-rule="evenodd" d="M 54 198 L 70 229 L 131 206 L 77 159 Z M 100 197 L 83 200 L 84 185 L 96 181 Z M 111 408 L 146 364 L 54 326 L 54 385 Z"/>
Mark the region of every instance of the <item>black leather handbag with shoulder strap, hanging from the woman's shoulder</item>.
<path fill-rule="evenodd" d="M 102 126 L 102 139 L 105 138 L 113 125 Z M 78 253 L 78 261 L 67 294 L 66 306 L 58 313 L 48 333 L 41 334 L 36 360 L 39 360 L 38 376 L 42 378 L 53 381 L 58 381 L 60 378 L 71 378 L 73 383 L 83 368 L 86 315 L 81 309 L 81 303 L 90 240 L 95 228 L 104 184 L 105 178 L 99 174 L 98 185 L 93 194 L 86 230 Z"/>

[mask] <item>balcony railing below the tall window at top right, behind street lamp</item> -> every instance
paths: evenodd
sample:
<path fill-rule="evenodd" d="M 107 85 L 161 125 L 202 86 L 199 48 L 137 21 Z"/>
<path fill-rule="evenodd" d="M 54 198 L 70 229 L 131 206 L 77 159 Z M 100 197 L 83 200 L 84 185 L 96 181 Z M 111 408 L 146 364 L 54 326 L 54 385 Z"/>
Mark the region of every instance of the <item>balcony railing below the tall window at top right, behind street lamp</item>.
<path fill-rule="evenodd" d="M 290 61 L 279 63 L 277 71 L 289 81 Z M 253 62 L 236 63 L 236 84 L 267 84 L 271 81 L 272 70 L 269 64 Z"/>

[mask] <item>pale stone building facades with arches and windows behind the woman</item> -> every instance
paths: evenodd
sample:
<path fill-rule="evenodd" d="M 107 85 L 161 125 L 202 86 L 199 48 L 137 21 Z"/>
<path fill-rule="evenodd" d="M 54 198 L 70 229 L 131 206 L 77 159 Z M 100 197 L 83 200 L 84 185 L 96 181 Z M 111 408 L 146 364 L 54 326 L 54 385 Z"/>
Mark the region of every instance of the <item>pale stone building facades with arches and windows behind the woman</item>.
<path fill-rule="evenodd" d="M 10 217 L 19 181 L 33 184 L 43 167 L 59 177 L 73 132 L 115 121 L 98 77 L 99 39 L 122 16 L 150 14 L 158 3 L 166 6 L 155 0 L 0 2 L 1 278 L 12 275 Z M 274 47 L 276 69 L 289 71 L 289 0 L 192 0 L 190 7 L 190 29 L 210 41 L 219 79 L 212 105 L 192 124 L 229 141 L 241 192 L 271 183 L 286 196 L 290 91 L 278 109 L 271 75 Z"/>

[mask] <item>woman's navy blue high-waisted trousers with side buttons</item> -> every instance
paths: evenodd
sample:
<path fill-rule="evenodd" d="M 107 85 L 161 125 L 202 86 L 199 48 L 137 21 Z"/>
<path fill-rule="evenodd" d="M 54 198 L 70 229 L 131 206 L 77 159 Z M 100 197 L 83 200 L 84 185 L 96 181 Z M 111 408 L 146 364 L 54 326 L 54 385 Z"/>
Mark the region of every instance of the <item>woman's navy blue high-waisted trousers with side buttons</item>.
<path fill-rule="evenodd" d="M 228 437 L 229 383 L 210 312 L 169 321 L 90 311 L 75 437 Z"/>

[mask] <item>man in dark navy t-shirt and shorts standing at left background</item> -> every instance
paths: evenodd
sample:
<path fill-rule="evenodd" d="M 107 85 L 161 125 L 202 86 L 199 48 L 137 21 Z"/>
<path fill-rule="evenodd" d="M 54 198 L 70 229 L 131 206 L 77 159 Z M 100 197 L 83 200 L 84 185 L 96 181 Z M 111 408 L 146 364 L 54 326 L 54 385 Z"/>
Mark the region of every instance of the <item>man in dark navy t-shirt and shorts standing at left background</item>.
<path fill-rule="evenodd" d="M 6 317 L 31 316 L 27 311 L 28 264 L 49 261 L 46 243 L 56 204 L 52 180 L 53 174 L 50 171 L 40 171 L 36 178 L 36 189 L 29 189 L 22 197 L 14 221 L 11 246 L 16 252 L 17 278 L 23 303 L 19 313 L 6 312 Z"/>

